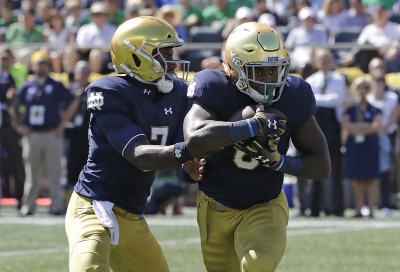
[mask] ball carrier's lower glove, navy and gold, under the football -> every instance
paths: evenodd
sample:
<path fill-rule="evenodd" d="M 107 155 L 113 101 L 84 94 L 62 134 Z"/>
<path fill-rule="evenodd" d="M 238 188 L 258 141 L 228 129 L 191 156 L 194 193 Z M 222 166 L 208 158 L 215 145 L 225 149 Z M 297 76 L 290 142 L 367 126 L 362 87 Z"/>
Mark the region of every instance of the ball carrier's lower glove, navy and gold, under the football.
<path fill-rule="evenodd" d="M 281 160 L 281 155 L 277 150 L 278 141 L 278 137 L 272 139 L 271 144 L 267 145 L 265 148 L 255 140 L 246 142 L 239 141 L 234 143 L 233 147 L 256 159 L 262 166 L 275 170 Z"/>

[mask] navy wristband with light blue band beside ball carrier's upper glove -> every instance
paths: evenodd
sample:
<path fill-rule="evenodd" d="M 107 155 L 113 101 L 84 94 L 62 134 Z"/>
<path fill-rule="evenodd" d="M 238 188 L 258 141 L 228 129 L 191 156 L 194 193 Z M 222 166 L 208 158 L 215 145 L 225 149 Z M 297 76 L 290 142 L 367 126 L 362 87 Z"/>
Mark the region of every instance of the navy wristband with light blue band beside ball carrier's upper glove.
<path fill-rule="evenodd" d="M 261 128 L 254 118 L 229 123 L 229 137 L 232 143 L 247 140 L 260 134 Z"/>

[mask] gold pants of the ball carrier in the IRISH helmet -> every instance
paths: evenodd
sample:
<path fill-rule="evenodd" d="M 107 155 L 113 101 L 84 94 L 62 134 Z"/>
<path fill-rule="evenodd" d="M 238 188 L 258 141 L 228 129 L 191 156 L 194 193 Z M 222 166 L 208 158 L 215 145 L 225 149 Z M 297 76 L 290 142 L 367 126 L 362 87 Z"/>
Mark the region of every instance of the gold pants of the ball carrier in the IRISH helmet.
<path fill-rule="evenodd" d="M 289 208 L 283 191 L 246 210 L 224 207 L 199 191 L 197 224 L 207 272 L 273 272 L 286 247 Z"/>

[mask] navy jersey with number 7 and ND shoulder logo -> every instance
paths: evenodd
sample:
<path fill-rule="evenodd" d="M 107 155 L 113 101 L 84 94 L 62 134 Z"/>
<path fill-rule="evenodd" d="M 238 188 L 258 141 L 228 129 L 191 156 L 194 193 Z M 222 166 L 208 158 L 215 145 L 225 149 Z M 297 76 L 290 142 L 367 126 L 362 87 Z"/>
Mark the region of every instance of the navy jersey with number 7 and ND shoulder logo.
<path fill-rule="evenodd" d="M 162 94 L 129 76 L 92 82 L 86 88 L 89 155 L 74 190 L 141 214 L 155 172 L 132 165 L 125 158 L 127 150 L 143 139 L 153 145 L 183 141 L 183 119 L 192 104 L 186 89 L 186 84 L 174 80 L 172 90 Z"/>

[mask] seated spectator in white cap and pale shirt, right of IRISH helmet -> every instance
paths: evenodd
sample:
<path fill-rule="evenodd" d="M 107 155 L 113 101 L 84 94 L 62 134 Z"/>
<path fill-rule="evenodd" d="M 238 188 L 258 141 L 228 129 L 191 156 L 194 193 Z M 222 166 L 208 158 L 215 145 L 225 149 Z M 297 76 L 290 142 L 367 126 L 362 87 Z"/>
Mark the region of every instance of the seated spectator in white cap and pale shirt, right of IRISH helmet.
<path fill-rule="evenodd" d="M 310 61 L 313 49 L 309 44 L 327 44 L 326 29 L 321 25 L 315 25 L 315 14 L 312 7 L 305 6 L 298 11 L 298 19 L 301 25 L 292 28 L 285 40 L 292 59 L 290 69 L 301 73 L 307 62 Z"/>

